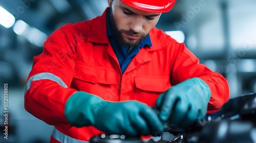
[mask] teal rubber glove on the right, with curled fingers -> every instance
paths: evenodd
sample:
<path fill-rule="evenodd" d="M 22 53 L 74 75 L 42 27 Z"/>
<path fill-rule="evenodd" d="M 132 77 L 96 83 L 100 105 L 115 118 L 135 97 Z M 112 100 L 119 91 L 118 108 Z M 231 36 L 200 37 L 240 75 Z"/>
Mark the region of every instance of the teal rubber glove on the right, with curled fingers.
<path fill-rule="evenodd" d="M 174 127 L 189 127 L 205 117 L 210 88 L 200 78 L 185 80 L 162 93 L 156 102 L 162 121 Z"/>

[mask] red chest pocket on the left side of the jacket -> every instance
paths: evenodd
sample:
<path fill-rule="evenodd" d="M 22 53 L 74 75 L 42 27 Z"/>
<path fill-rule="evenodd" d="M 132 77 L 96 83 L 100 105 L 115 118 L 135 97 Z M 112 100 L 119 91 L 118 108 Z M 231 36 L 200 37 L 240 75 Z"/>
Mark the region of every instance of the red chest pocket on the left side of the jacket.
<path fill-rule="evenodd" d="M 112 69 L 76 64 L 72 88 L 85 91 L 104 100 L 118 100 L 116 74 Z"/>

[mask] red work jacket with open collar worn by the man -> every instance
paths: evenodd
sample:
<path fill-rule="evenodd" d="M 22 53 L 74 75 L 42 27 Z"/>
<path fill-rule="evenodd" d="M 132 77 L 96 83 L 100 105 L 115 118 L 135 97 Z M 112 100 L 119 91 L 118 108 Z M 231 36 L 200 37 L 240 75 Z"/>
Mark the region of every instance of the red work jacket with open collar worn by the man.
<path fill-rule="evenodd" d="M 108 101 L 137 100 L 155 106 L 158 96 L 169 87 L 198 77 L 211 90 L 208 114 L 229 99 L 226 79 L 199 64 L 183 43 L 157 28 L 150 31 L 150 38 L 153 46 L 141 47 L 122 74 L 106 36 L 106 11 L 92 20 L 61 27 L 33 59 L 25 89 L 26 110 L 61 133 L 87 141 L 100 131 L 92 126 L 76 128 L 64 115 L 65 104 L 76 91 Z"/>

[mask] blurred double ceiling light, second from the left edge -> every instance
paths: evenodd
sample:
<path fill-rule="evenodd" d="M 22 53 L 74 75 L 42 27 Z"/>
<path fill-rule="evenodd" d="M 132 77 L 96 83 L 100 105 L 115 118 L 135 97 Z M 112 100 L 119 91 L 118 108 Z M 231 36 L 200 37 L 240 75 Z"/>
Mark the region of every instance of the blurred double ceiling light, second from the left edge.
<path fill-rule="evenodd" d="M 47 39 L 47 35 L 40 30 L 30 27 L 23 20 L 17 20 L 13 26 L 13 31 L 17 35 L 24 36 L 30 43 L 42 47 L 42 44 Z"/>

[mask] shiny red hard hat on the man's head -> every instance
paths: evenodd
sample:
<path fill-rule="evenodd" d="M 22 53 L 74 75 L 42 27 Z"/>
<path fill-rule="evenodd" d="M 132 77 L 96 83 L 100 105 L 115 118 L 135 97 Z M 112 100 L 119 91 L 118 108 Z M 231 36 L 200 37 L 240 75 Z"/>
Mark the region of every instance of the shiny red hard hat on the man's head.
<path fill-rule="evenodd" d="M 173 8 L 176 0 L 120 0 L 126 5 L 135 9 L 146 11 L 164 13 Z"/>

